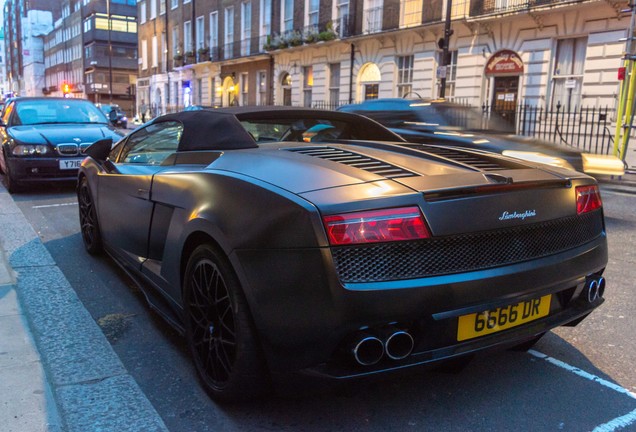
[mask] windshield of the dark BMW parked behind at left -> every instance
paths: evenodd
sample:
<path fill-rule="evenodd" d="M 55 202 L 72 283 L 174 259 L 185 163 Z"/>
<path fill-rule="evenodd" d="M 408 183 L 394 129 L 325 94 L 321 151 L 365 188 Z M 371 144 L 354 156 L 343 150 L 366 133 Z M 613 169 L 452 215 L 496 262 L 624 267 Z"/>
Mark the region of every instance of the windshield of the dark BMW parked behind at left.
<path fill-rule="evenodd" d="M 83 99 L 37 99 L 16 103 L 14 124 L 108 123 L 92 102 Z"/>

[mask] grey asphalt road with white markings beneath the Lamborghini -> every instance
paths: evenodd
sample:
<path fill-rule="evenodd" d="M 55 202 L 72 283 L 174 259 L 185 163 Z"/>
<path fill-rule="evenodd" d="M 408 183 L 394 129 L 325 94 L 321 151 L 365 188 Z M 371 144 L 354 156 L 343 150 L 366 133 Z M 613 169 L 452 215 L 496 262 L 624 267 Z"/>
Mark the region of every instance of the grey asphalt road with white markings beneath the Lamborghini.
<path fill-rule="evenodd" d="M 607 301 L 530 353 L 326 389 L 294 381 L 262 401 L 217 406 L 178 334 L 110 259 L 84 252 L 73 186 L 46 189 L 14 198 L 171 431 L 636 430 L 636 194 L 603 189 Z"/>

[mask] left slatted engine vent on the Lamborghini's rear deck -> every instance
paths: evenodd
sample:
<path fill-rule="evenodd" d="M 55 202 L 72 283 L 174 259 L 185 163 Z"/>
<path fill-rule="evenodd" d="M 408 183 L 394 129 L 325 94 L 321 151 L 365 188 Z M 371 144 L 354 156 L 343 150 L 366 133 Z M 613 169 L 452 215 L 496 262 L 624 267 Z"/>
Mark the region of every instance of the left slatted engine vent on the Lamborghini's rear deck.
<path fill-rule="evenodd" d="M 333 147 L 303 147 L 287 149 L 294 153 L 300 153 L 307 156 L 313 156 L 320 159 L 338 162 L 354 168 L 359 168 L 370 173 L 383 176 L 389 179 L 400 177 L 417 177 L 418 174 L 408 171 L 404 168 L 392 165 L 387 162 L 374 159 L 369 156 L 353 153 L 347 150 L 337 149 Z"/>

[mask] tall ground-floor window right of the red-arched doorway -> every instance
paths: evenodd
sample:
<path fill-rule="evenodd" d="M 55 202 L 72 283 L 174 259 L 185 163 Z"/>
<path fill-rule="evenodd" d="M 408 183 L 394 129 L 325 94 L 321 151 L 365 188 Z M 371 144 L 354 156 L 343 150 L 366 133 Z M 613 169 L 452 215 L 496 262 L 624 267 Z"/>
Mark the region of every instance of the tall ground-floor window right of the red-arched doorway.
<path fill-rule="evenodd" d="M 552 75 L 552 106 L 573 109 L 581 103 L 587 37 L 557 41 Z"/>

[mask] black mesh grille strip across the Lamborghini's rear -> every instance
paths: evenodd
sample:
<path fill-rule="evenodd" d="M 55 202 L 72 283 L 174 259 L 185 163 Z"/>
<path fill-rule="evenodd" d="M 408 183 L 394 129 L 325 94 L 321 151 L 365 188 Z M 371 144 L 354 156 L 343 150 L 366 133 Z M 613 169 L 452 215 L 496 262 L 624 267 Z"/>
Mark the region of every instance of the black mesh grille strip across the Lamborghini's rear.
<path fill-rule="evenodd" d="M 603 231 L 600 211 L 532 225 L 416 242 L 331 249 L 345 283 L 415 279 L 483 270 L 581 246 Z"/>

